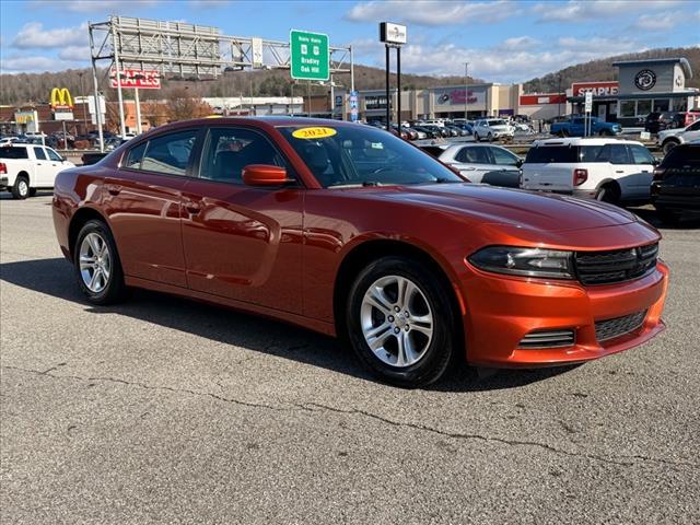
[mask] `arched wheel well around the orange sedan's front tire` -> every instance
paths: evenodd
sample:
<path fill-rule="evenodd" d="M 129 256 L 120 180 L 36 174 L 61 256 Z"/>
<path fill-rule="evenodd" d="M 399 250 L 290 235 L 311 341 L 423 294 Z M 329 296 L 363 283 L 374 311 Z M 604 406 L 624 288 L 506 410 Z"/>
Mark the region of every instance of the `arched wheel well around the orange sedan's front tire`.
<path fill-rule="evenodd" d="M 459 301 L 457 300 L 457 295 L 454 288 L 452 287 L 450 278 L 443 270 L 442 266 L 440 266 L 440 264 L 430 254 L 412 244 L 388 240 L 368 241 L 353 248 L 346 256 L 346 258 L 342 259 L 336 277 L 332 295 L 335 314 L 334 317 L 336 319 L 336 330 L 338 335 L 345 335 L 345 325 L 342 323 L 339 323 L 339 319 L 345 318 L 343 308 L 348 301 L 350 288 L 352 287 L 352 282 L 354 281 L 355 277 L 373 260 L 387 256 L 410 257 L 415 260 L 418 260 L 419 262 L 422 262 L 428 268 L 434 271 L 434 275 L 440 279 L 447 293 L 447 296 L 450 298 L 451 305 L 456 316 L 455 330 L 458 331 L 459 336 L 457 341 L 459 342 L 459 345 L 463 345 L 463 327 L 462 323 L 457 320 L 460 315 L 462 308 L 459 306 Z"/>

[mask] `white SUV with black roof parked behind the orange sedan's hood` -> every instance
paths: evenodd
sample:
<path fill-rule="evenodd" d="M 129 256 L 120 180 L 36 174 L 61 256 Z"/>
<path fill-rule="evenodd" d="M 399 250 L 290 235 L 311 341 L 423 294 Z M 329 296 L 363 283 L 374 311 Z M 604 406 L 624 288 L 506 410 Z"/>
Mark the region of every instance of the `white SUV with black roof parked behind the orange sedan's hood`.
<path fill-rule="evenodd" d="M 618 139 L 536 140 L 523 164 L 523 189 L 649 202 L 657 161 L 641 143 Z"/>

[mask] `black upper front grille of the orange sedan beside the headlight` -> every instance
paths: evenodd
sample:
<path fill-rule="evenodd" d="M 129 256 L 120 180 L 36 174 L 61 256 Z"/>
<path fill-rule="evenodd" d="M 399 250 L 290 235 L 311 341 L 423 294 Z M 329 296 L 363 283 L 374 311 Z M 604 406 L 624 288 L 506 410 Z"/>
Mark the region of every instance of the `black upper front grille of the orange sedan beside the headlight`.
<path fill-rule="evenodd" d="M 656 266 L 658 244 L 611 252 L 576 252 L 576 275 L 583 284 L 609 284 L 644 276 Z"/>

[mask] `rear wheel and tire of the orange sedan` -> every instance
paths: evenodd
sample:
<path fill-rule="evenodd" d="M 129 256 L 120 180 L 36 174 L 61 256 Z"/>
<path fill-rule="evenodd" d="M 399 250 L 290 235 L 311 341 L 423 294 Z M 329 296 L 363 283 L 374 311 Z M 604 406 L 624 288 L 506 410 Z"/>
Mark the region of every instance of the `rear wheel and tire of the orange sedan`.
<path fill-rule="evenodd" d="M 103 246 L 106 246 L 106 252 Z M 91 303 L 113 304 L 126 296 L 117 245 L 103 221 L 88 221 L 80 230 L 73 248 L 73 267 L 80 288 Z M 95 273 L 101 273 L 101 277 L 93 281 Z"/>

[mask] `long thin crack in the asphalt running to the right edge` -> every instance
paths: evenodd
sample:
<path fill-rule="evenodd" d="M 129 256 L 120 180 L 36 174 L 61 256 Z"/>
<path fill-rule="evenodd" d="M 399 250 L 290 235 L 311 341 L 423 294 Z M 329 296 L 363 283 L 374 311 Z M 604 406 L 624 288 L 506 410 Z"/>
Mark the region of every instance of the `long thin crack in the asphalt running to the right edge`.
<path fill-rule="evenodd" d="M 320 404 L 317 404 L 317 402 L 308 402 L 308 404 L 305 404 L 305 405 L 300 405 L 300 407 L 301 408 L 305 408 L 306 410 L 312 410 L 312 411 L 314 409 L 317 409 L 317 410 L 328 410 L 328 411 L 332 411 L 332 412 L 351 415 L 351 416 L 362 416 L 362 417 L 366 417 L 366 418 L 371 418 L 371 419 L 381 421 L 381 422 L 386 423 L 386 424 L 390 424 L 392 427 L 409 428 L 409 429 L 413 429 L 413 430 L 419 430 L 419 431 L 423 431 L 423 432 L 430 432 L 430 433 L 433 433 L 433 434 L 442 435 L 444 438 L 451 438 L 451 439 L 454 439 L 454 440 L 471 440 L 471 441 L 482 441 L 485 443 L 501 443 L 501 444 L 505 444 L 505 445 L 509 445 L 509 446 L 532 446 L 532 447 L 541 448 L 541 450 L 551 452 L 553 454 L 559 454 L 559 455 L 562 455 L 562 456 L 585 457 L 587 459 L 592 459 L 592 460 L 596 460 L 596 462 L 600 462 L 600 463 L 606 463 L 606 464 L 609 464 L 609 465 L 619 465 L 619 466 L 623 466 L 623 467 L 633 466 L 640 459 L 643 460 L 643 462 L 658 463 L 658 464 L 669 465 L 669 466 L 673 466 L 673 467 L 681 467 L 681 466 L 692 467 L 692 468 L 699 468 L 700 467 L 700 465 L 693 464 L 693 463 L 673 462 L 673 460 L 669 460 L 669 459 L 649 457 L 649 456 L 642 456 L 642 455 L 617 456 L 616 458 L 610 458 L 610 457 L 606 457 L 606 456 L 602 456 L 602 455 L 597 455 L 597 454 L 586 454 L 586 453 L 579 453 L 579 452 L 570 452 L 570 451 L 565 451 L 565 450 L 562 450 L 562 448 L 557 448 L 557 447 L 548 445 L 546 443 L 539 443 L 539 442 L 536 442 L 536 441 L 505 440 L 503 438 L 493 438 L 493 436 L 481 435 L 481 434 L 476 434 L 476 433 L 471 434 L 471 433 L 462 433 L 462 432 L 447 432 L 447 431 L 444 431 L 444 430 L 435 429 L 433 427 L 428 427 L 425 424 L 394 421 L 394 420 L 387 419 L 387 418 L 385 418 L 383 416 L 377 416 L 376 413 L 368 412 L 365 410 L 360 410 L 360 409 L 357 409 L 357 408 L 345 410 L 345 409 L 340 409 L 340 408 L 336 408 L 336 407 L 330 407 L 328 405 L 320 405 Z"/>

